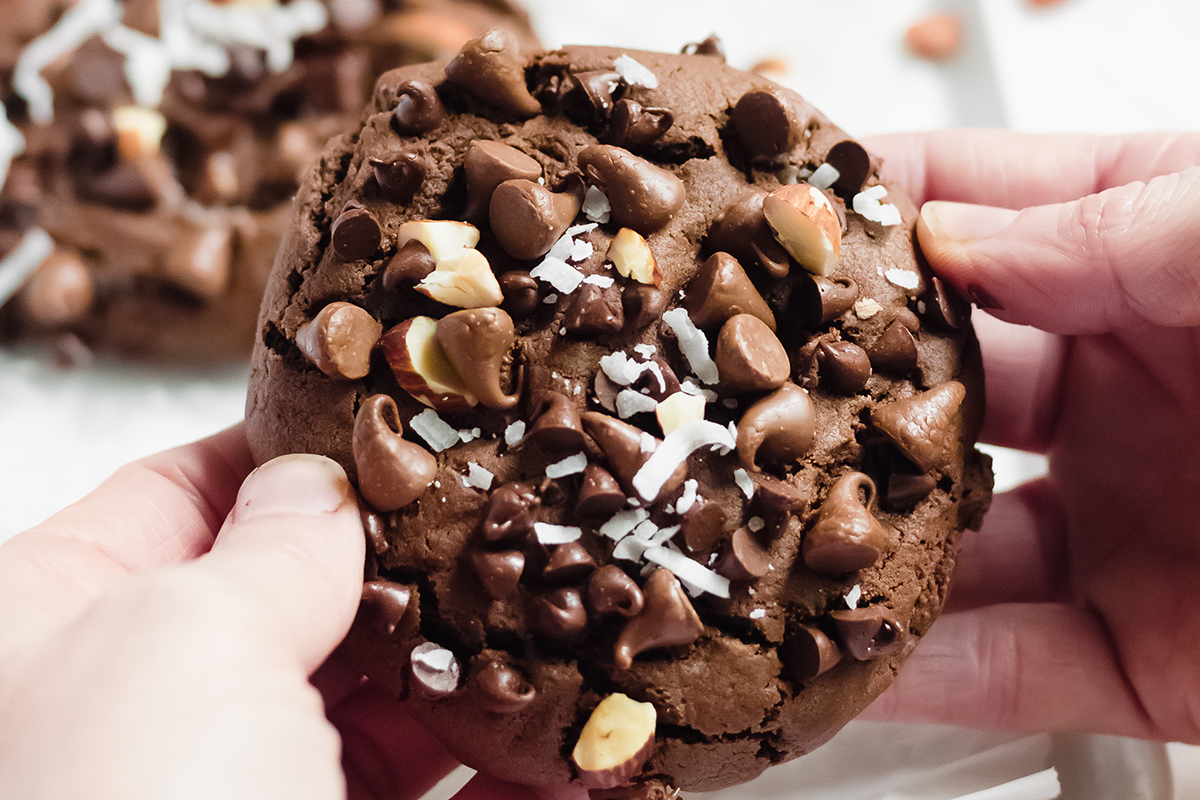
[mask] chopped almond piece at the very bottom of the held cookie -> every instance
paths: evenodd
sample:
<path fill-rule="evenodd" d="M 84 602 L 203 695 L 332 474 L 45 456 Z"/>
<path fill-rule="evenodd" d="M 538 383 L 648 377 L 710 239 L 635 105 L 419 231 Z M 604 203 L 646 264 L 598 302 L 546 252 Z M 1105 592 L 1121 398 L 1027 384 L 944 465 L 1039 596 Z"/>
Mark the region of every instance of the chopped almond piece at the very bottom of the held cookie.
<path fill-rule="evenodd" d="M 581 780 L 590 788 L 611 789 L 629 782 L 654 750 L 658 714 L 617 692 L 600 700 L 571 751 Z"/>

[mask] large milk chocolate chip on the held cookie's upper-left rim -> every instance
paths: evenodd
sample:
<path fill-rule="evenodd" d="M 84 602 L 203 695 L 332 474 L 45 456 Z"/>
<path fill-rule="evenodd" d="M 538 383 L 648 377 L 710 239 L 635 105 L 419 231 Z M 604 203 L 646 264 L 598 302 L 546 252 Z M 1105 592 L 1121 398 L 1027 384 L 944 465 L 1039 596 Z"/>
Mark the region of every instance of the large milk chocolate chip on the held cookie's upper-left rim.
<path fill-rule="evenodd" d="M 541 103 L 524 82 L 524 59 L 516 37 L 493 28 L 463 44 L 446 65 L 446 79 L 493 108 L 527 118 L 541 112 Z"/>

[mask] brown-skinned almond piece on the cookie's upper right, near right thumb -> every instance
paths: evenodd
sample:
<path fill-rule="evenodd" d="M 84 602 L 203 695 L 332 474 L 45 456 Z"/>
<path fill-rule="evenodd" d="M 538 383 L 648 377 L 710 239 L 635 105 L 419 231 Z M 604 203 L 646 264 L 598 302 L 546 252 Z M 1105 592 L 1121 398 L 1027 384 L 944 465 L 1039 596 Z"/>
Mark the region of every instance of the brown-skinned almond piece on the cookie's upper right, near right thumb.
<path fill-rule="evenodd" d="M 841 221 L 829 198 L 808 184 L 788 184 L 763 199 L 775 239 L 812 275 L 833 272 L 841 255 Z"/>

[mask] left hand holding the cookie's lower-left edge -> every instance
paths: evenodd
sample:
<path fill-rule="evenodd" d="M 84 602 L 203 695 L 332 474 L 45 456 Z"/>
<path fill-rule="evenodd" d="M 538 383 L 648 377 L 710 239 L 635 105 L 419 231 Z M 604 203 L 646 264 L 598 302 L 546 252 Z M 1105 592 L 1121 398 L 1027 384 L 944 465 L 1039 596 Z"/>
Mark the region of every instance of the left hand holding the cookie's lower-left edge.
<path fill-rule="evenodd" d="M 238 426 L 0 547 L 0 794 L 415 799 L 457 766 L 326 661 L 362 584 L 346 474 L 252 468 Z M 484 776 L 458 795 L 524 796 Z"/>

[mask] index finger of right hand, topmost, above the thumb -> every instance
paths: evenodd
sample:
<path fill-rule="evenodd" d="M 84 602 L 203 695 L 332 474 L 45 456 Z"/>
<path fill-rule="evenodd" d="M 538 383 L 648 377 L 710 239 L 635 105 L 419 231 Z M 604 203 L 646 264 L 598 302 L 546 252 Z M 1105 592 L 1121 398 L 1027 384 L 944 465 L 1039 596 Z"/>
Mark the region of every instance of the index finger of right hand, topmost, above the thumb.
<path fill-rule="evenodd" d="M 1078 200 L 1200 164 L 1200 133 L 1126 136 L 947 130 L 863 140 L 883 175 L 919 205 L 955 200 L 1024 209 Z"/>

